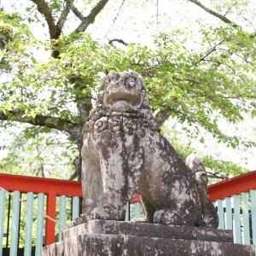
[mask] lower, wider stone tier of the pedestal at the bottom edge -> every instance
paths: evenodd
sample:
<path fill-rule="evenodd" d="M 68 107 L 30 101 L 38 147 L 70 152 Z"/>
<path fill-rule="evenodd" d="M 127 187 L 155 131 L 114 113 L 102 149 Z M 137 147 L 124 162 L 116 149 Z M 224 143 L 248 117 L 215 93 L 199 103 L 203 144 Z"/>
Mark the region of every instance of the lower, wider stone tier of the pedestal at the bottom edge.
<path fill-rule="evenodd" d="M 43 247 L 42 256 L 254 256 L 254 247 L 122 234 L 83 234 Z"/>

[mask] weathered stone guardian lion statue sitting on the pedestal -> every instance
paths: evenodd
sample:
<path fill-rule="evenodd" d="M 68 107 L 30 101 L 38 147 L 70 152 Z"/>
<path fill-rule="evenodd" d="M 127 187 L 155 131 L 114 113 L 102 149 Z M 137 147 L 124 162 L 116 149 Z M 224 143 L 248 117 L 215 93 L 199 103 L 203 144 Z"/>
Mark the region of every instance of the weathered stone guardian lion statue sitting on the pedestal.
<path fill-rule="evenodd" d="M 145 216 L 133 221 L 217 228 L 207 172 L 193 157 L 188 168 L 160 134 L 144 79 L 132 71 L 109 73 L 100 90 L 83 129 L 82 214 L 71 225 L 125 220 L 126 201 L 137 191 Z"/>

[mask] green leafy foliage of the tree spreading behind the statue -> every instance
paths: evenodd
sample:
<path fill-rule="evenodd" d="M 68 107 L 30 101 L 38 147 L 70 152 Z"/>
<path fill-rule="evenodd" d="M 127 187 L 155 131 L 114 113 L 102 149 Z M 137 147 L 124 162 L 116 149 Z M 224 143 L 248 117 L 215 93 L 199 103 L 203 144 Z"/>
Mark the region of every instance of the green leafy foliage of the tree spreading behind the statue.
<path fill-rule="evenodd" d="M 49 1 L 49 10 L 53 20 L 59 20 L 58 24 L 61 23 L 62 3 Z M 224 11 L 224 3 L 214 2 L 214 8 Z M 230 2 L 229 8 L 236 6 L 244 15 L 246 4 L 236 3 Z M 32 9 L 27 9 L 28 22 L 42 20 L 37 19 L 38 13 L 32 18 Z M 74 10 L 74 14 L 79 15 Z M 42 14 L 47 18 L 46 12 Z M 43 162 L 44 166 L 46 163 L 52 166 L 48 172 L 55 175 L 52 170 L 69 157 L 65 168 L 67 173 L 73 172 L 71 157 L 78 154 L 74 150 L 76 145 L 80 150 L 78 134 L 88 119 L 102 76 L 129 69 L 146 79 L 149 101 L 160 124 L 167 118 L 177 119 L 183 124 L 186 136 L 201 143 L 206 143 L 201 136 L 203 129 L 216 143 L 224 143 L 227 147 L 256 146 L 255 141 L 230 136 L 219 127 L 220 119 L 237 125 L 247 114 L 252 118 L 256 116 L 256 37 L 255 33 L 242 30 L 235 23 L 201 24 L 196 34 L 201 38 L 201 45 L 196 47 L 189 44 L 195 38 L 194 32 L 184 27 L 156 32 L 150 46 L 128 44 L 117 48 L 113 44 L 100 44 L 87 32 L 77 31 L 40 41 L 32 38 L 19 15 L 2 12 L 0 20 L 3 45 L 0 68 L 7 78 L 1 84 L 1 124 L 3 127 L 14 122 L 33 125 L 22 125 L 24 131 L 9 147 L 8 157 L 2 160 L 2 170 L 9 169 L 11 163 L 12 172 L 25 172 L 28 168 L 31 174 L 42 175 L 39 170 Z M 48 26 L 50 30 L 49 22 Z M 39 61 L 37 50 L 44 55 L 51 52 L 52 56 L 47 61 Z M 61 132 L 65 133 L 62 150 L 59 143 L 54 143 Z M 181 155 L 191 152 L 189 144 L 180 145 L 177 137 L 170 139 Z M 44 157 L 40 153 L 42 150 Z M 49 157 L 52 154 L 55 156 Z M 17 160 L 12 162 L 15 156 Z M 218 173 L 212 177 L 222 179 L 247 172 L 211 154 L 202 155 L 202 159 L 210 172 Z M 20 162 L 24 168 L 20 167 Z M 222 166 L 230 166 L 231 174 Z"/>

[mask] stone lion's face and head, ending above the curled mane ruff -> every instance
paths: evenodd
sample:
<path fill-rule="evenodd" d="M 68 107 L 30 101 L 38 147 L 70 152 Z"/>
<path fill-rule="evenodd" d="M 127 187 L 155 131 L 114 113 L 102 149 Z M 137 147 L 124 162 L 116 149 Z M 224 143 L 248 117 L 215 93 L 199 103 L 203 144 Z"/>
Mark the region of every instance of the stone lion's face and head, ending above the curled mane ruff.
<path fill-rule="evenodd" d="M 143 116 L 151 119 L 153 113 L 148 104 L 145 80 L 138 73 L 108 73 L 102 79 L 96 108 L 90 111 L 90 119 L 102 116 Z"/>

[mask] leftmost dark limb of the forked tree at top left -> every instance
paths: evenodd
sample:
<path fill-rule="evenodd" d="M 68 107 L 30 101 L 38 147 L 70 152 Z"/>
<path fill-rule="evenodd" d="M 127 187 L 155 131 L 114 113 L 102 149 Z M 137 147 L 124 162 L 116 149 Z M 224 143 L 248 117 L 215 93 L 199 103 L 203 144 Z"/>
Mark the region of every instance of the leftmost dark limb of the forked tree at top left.
<path fill-rule="evenodd" d="M 48 4 L 44 0 L 31 0 L 31 1 L 37 4 L 38 12 L 41 15 L 44 15 L 44 18 L 49 27 L 49 37 L 51 39 L 55 39 L 55 34 L 56 34 L 55 20 L 51 14 L 51 10 L 49 9 Z"/>

